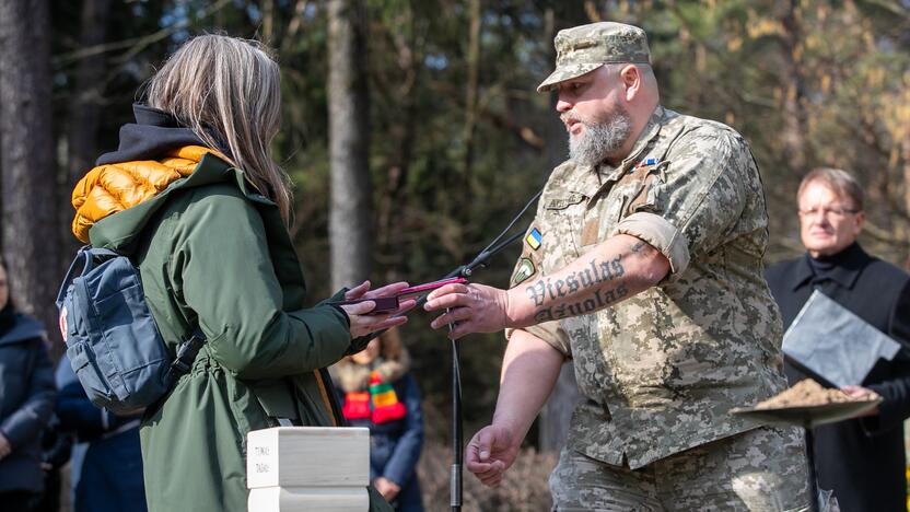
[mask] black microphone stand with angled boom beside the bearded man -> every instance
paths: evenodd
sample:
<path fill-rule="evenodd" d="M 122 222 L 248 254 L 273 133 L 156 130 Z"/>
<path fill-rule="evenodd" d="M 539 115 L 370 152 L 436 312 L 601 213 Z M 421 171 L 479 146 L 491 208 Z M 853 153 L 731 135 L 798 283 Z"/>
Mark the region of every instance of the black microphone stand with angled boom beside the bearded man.
<path fill-rule="evenodd" d="M 542 190 L 538 191 L 530 200 L 525 205 L 522 211 L 512 219 L 512 222 L 505 226 L 504 230 L 490 242 L 483 251 L 478 254 L 474 260 L 471 260 L 467 265 L 462 265 L 456 269 L 448 272 L 443 279 L 455 278 L 455 277 L 463 277 L 465 279 L 470 278 L 474 275 L 474 271 L 480 268 L 486 267 L 487 260 L 500 253 L 502 249 L 511 245 L 513 242 L 522 237 L 524 232 L 518 232 L 513 234 L 512 236 L 505 238 L 505 241 L 500 242 L 500 240 L 509 232 L 510 229 L 518 221 L 518 219 L 524 216 L 525 211 L 534 203 L 542 194 Z M 421 307 L 423 304 L 427 303 L 428 294 L 422 295 L 417 301 L 417 305 L 415 307 Z M 451 333 L 455 326 L 453 324 L 448 324 L 448 331 Z M 453 512 L 459 512 L 462 510 L 462 461 L 464 461 L 464 434 L 462 432 L 462 371 L 460 364 L 458 360 L 458 340 L 452 340 L 452 466 L 450 468 L 448 475 L 448 497 L 450 497 L 450 505 L 452 507 Z"/>

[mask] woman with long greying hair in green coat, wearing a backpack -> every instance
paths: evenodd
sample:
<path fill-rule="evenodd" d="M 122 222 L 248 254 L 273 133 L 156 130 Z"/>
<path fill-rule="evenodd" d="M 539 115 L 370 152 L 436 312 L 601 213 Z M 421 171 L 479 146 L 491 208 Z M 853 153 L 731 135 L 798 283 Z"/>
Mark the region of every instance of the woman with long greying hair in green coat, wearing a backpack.
<path fill-rule="evenodd" d="M 73 191 L 73 233 L 131 256 L 168 347 L 196 328 L 207 340 L 142 420 L 151 511 L 246 510 L 247 432 L 342 424 L 325 368 L 405 322 L 370 314 L 372 301 L 332 302 L 406 283 L 371 291 L 368 281 L 304 307 L 289 181 L 270 150 L 280 103 L 267 48 L 192 38 L 149 81 L 119 149 Z M 372 489 L 371 505 L 387 507 Z"/>

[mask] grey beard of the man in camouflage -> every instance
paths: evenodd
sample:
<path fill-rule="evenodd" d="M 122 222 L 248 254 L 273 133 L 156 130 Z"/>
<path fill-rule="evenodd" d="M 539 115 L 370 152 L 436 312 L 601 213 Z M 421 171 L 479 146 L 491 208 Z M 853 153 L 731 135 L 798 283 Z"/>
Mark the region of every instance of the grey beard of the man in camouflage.
<path fill-rule="evenodd" d="M 603 123 L 590 123 L 569 113 L 563 117 L 584 125 L 582 133 L 569 135 L 569 158 L 579 165 L 599 164 L 616 154 L 632 135 L 632 118 L 622 107 L 617 107 L 610 119 Z"/>

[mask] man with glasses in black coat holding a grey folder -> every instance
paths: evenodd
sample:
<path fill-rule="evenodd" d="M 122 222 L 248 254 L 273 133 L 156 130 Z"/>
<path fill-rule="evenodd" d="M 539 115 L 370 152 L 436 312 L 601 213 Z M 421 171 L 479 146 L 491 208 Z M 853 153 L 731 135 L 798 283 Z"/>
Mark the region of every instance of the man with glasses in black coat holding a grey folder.
<path fill-rule="evenodd" d="M 800 235 L 806 254 L 768 269 L 766 277 L 789 327 L 814 290 L 903 345 L 892 361 L 879 359 L 862 386 L 882 395 L 877 409 L 815 429 L 815 465 L 821 489 L 833 489 L 843 512 L 903 511 L 907 503 L 903 420 L 910 417 L 910 278 L 866 254 L 863 193 L 840 170 L 809 173 L 797 191 Z M 805 379 L 785 363 L 790 384 Z"/>

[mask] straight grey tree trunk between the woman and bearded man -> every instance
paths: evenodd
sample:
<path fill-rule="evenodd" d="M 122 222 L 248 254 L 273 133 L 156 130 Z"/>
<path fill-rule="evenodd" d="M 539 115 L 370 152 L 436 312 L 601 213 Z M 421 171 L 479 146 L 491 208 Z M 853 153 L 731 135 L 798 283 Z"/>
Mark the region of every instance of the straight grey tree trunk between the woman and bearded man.
<path fill-rule="evenodd" d="M 372 216 L 362 0 L 328 2 L 329 243 L 335 289 L 370 274 Z"/>

